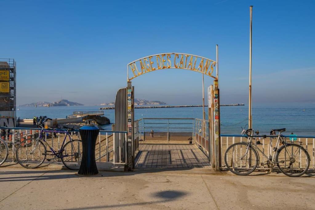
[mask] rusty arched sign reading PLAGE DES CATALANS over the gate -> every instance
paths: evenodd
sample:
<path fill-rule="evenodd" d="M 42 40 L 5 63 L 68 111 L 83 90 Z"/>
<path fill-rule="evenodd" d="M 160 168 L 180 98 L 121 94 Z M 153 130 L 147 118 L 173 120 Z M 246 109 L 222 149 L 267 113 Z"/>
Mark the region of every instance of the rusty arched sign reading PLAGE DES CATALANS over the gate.
<path fill-rule="evenodd" d="M 140 76 L 146 72 L 159 69 L 186 69 L 198 71 L 210 77 L 212 76 L 216 62 L 197 55 L 183 53 L 165 53 L 150 55 L 128 64 L 128 80 Z"/>

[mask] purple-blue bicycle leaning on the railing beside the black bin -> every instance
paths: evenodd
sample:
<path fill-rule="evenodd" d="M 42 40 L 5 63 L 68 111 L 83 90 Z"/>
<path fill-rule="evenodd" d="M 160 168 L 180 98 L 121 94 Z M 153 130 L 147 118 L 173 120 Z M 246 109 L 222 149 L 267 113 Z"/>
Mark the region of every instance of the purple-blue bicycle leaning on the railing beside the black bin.
<path fill-rule="evenodd" d="M 47 120 L 51 119 L 44 118 L 38 123 L 42 129 L 36 139 L 29 138 L 18 145 L 16 149 L 17 161 L 25 168 L 37 168 L 45 161 L 46 156 L 50 155 L 54 157 L 48 158 L 47 161 L 51 161 L 53 159 L 60 161 L 61 159 L 62 163 L 67 168 L 71 170 L 79 170 L 82 161 L 82 141 L 79 139 L 73 140 L 69 135 L 69 132 L 74 130 L 73 128 L 64 126 L 66 130 L 44 129 L 44 122 Z M 53 133 L 65 133 L 65 138 L 57 151 L 48 144 L 45 138 L 46 133 L 51 133 L 51 135 L 53 135 Z M 69 136 L 69 141 L 65 144 L 67 136 Z M 46 150 L 44 143 L 46 143 L 50 151 Z"/>

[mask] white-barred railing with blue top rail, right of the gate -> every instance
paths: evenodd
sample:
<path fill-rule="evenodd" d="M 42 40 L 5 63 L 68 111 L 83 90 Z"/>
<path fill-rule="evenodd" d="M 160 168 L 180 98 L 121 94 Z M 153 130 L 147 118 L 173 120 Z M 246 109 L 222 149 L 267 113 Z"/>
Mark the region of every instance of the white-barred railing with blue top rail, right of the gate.
<path fill-rule="evenodd" d="M 226 135 L 226 134 L 221 134 L 221 167 L 225 168 L 225 162 L 224 162 L 224 155 L 225 155 L 225 151 L 226 149 L 237 142 L 247 142 L 247 138 L 246 136 L 243 135 Z M 255 135 L 254 136 L 255 139 L 253 139 L 253 143 L 255 144 L 256 141 L 260 141 L 260 143 L 262 143 L 262 145 L 259 145 L 261 151 L 269 158 L 271 158 L 272 154 L 273 154 L 273 150 L 272 148 L 274 147 L 274 145 L 277 142 L 278 139 L 278 135 Z M 313 169 L 315 169 L 315 136 L 307 136 L 307 135 L 294 135 L 294 136 L 288 136 L 288 135 L 283 135 L 283 138 L 285 139 L 285 141 L 291 141 L 290 138 L 297 138 L 296 141 L 292 141 L 293 143 L 302 143 L 302 146 L 306 149 L 306 151 L 308 152 L 308 154 L 310 155 L 311 158 L 311 162 L 310 162 L 310 168 L 312 167 Z M 259 153 L 258 153 L 259 154 Z M 261 162 L 266 162 L 266 158 L 260 154 L 260 163 Z M 259 168 L 264 168 L 263 166 L 261 166 L 261 164 L 258 165 Z"/>

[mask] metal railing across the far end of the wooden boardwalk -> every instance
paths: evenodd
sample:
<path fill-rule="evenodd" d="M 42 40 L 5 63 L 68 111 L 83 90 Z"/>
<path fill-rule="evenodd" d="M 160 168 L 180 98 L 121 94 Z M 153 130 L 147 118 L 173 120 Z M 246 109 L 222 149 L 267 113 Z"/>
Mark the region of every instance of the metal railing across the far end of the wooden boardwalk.
<path fill-rule="evenodd" d="M 189 141 L 194 138 L 194 118 L 141 118 L 135 122 L 135 135 L 143 137 L 143 141 Z"/>

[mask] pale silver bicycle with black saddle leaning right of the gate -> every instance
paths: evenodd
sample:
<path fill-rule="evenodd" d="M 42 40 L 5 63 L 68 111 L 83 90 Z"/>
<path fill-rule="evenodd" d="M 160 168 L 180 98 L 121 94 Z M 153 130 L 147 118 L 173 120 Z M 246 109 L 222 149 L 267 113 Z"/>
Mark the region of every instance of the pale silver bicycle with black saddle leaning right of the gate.
<path fill-rule="evenodd" d="M 267 157 L 257 145 L 262 145 L 258 141 L 255 144 L 252 142 L 254 131 L 252 129 L 246 130 L 248 138 L 247 143 L 239 142 L 229 146 L 225 152 L 224 161 L 226 167 L 234 174 L 237 175 L 249 175 L 252 173 L 259 164 L 258 152 L 266 157 L 266 163 L 261 163 L 262 166 L 267 165 L 271 171 L 272 168 L 277 165 L 279 170 L 289 177 L 302 176 L 308 170 L 310 165 L 310 156 L 308 152 L 302 147 L 302 144 L 287 143 L 281 132 L 282 129 L 273 129 L 278 131 L 278 139 L 275 147 L 273 147 L 272 158 Z M 280 144 L 279 144 L 280 143 Z M 282 146 L 280 146 L 282 145 Z M 280 146 L 278 148 L 278 146 Z"/>

